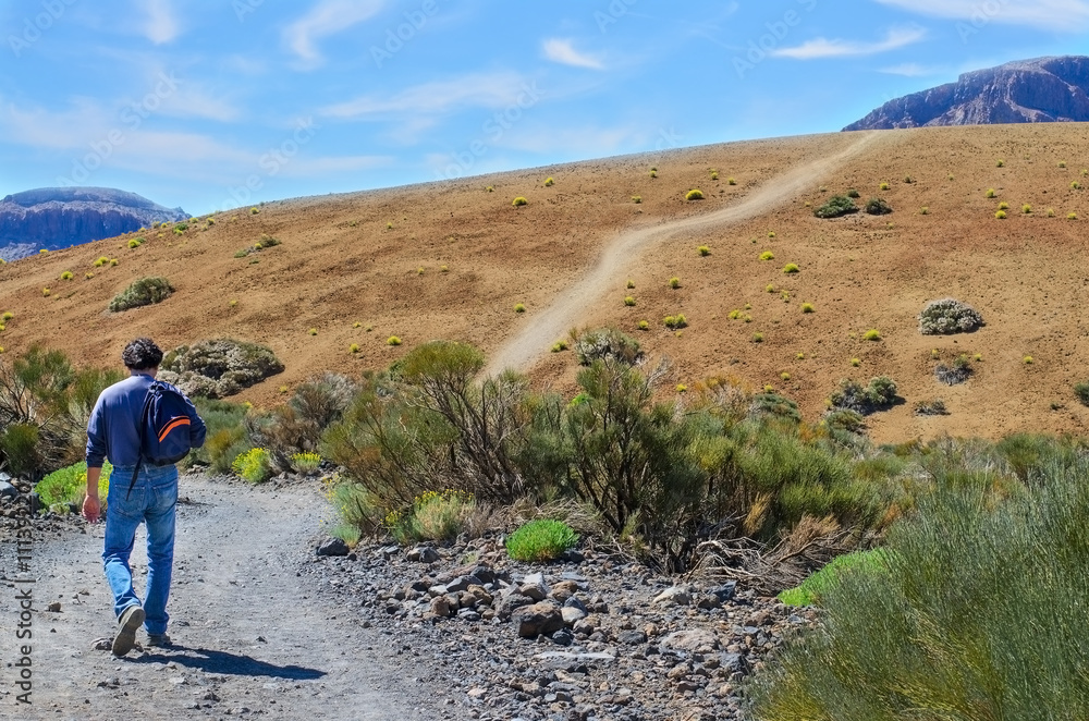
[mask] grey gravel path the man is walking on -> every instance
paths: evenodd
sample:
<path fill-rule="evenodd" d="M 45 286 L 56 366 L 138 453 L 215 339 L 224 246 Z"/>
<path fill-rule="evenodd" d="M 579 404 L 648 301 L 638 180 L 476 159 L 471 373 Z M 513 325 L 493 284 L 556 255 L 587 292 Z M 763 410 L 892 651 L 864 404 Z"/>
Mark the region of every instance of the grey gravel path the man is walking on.
<path fill-rule="evenodd" d="M 0 543 L 0 718 L 19 719 L 433 719 L 425 674 L 389 636 L 323 607 L 313 566 L 325 502 L 313 485 L 247 488 L 182 478 L 170 649 L 124 659 L 93 650 L 112 636 L 102 576 L 103 526 L 37 538 L 32 552 L 33 706 L 19 705 L 15 624 L 22 584 L 15 543 Z M 143 588 L 143 527 L 133 565 Z M 82 590 L 88 595 L 79 595 Z M 73 600 L 78 595 L 79 601 Z M 60 613 L 46 611 L 60 601 Z M 137 641 L 144 640 L 137 635 Z M 245 709 L 248 709 L 246 711 Z"/>

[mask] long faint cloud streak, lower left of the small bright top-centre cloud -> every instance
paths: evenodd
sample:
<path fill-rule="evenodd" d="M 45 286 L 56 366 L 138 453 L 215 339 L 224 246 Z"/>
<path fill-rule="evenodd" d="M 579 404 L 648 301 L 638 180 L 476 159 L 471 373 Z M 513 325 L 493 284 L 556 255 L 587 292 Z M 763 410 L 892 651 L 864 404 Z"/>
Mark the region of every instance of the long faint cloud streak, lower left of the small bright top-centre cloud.
<path fill-rule="evenodd" d="M 518 73 L 473 73 L 415 85 L 392 97 L 366 95 L 322 108 L 319 112 L 345 120 L 393 114 L 433 115 L 461 108 L 505 108 L 527 98 L 533 102 L 534 93 L 540 94 L 540 90 Z"/>

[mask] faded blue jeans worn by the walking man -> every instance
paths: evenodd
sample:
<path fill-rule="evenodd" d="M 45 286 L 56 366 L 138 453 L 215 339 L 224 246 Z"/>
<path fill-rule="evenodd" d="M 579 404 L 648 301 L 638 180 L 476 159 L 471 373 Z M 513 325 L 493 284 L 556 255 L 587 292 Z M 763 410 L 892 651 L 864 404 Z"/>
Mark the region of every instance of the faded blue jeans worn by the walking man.
<path fill-rule="evenodd" d="M 133 589 L 129 554 L 136 540 L 136 527 L 147 524 L 147 588 L 144 628 L 149 634 L 167 633 L 167 597 L 174 565 L 174 509 L 178 504 L 178 468 L 142 466 L 132 493 L 129 482 L 133 468 L 115 466 L 106 497 L 106 550 L 102 566 L 113 591 L 113 612 L 118 619 L 131 606 L 139 606 Z M 125 498 L 125 494 L 129 498 Z"/>

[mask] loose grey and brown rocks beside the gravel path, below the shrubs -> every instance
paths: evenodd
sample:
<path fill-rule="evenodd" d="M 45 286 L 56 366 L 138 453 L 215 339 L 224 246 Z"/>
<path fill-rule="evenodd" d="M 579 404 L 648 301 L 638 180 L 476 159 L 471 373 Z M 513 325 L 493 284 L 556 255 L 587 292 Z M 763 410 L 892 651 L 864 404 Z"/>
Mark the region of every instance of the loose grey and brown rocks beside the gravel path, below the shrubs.
<path fill-rule="evenodd" d="M 474 719 L 744 718 L 742 682 L 813 620 L 592 550 L 547 566 L 511 561 L 494 538 L 330 551 L 346 555 L 316 555 L 316 586 L 430 659 L 426 683 Z"/>

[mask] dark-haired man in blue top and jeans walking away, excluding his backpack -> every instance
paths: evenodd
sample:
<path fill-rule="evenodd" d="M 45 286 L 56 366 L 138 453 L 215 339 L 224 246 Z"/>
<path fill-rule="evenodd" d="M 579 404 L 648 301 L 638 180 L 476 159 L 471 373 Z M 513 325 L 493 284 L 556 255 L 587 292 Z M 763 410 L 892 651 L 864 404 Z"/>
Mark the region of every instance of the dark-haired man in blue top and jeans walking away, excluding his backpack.
<path fill-rule="evenodd" d="M 136 630 L 144 625 L 149 646 L 169 646 L 167 597 L 174 563 L 174 509 L 178 503 L 178 468 L 157 466 L 140 457 L 140 423 L 148 387 L 159 372 L 162 351 L 148 338 L 137 338 L 121 353 L 131 376 L 110 386 L 95 403 L 87 424 L 87 496 L 83 514 L 95 523 L 101 514 L 98 479 L 102 461 L 113 464 L 106 504 L 106 549 L 102 565 L 113 591 L 113 612 L 120 628 L 113 638 L 114 656 L 124 656 L 136 643 Z M 188 406 L 189 443 L 204 444 L 205 424 L 193 403 Z M 132 490 L 129 481 L 136 466 Z M 147 588 L 140 604 L 133 589 L 129 566 L 136 527 L 147 524 Z"/>

